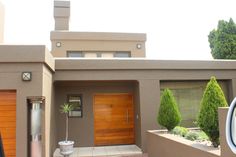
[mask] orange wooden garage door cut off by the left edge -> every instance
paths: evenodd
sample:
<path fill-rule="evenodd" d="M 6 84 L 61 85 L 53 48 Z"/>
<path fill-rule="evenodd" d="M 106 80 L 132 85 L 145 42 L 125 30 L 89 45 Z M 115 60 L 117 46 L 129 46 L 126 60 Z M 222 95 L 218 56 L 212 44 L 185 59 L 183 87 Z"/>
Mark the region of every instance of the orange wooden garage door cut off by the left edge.
<path fill-rule="evenodd" d="M 16 92 L 0 90 L 0 132 L 6 157 L 16 156 Z"/>

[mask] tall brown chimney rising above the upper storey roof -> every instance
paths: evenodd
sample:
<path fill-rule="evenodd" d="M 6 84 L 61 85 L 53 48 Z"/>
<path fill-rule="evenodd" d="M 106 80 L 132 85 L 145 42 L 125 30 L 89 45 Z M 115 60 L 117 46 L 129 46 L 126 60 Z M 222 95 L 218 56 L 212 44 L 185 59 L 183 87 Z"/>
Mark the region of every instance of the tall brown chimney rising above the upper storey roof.
<path fill-rule="evenodd" d="M 54 0 L 55 30 L 69 30 L 70 1 Z"/>

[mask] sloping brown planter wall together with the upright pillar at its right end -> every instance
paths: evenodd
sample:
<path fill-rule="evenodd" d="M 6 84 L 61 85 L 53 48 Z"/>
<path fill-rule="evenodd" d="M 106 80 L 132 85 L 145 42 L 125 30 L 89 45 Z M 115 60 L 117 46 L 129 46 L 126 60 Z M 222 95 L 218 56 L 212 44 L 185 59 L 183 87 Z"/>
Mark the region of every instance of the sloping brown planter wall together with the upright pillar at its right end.
<path fill-rule="evenodd" d="M 225 137 L 225 121 L 228 108 L 218 110 L 220 149 L 197 144 L 186 139 L 170 136 L 163 131 L 147 132 L 148 157 L 236 157 L 230 150 Z"/>

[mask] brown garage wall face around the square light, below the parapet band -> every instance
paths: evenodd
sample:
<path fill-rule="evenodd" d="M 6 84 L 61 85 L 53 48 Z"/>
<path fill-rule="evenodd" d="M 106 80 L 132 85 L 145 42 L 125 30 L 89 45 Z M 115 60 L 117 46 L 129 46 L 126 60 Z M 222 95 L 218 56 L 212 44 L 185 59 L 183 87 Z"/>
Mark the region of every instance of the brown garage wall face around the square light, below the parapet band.
<path fill-rule="evenodd" d="M 16 156 L 27 156 L 27 97 L 42 95 L 42 65 L 0 63 L 0 90 L 16 90 Z M 32 71 L 34 79 L 22 82 L 21 73 Z M 44 129 L 43 129 L 44 130 Z"/>

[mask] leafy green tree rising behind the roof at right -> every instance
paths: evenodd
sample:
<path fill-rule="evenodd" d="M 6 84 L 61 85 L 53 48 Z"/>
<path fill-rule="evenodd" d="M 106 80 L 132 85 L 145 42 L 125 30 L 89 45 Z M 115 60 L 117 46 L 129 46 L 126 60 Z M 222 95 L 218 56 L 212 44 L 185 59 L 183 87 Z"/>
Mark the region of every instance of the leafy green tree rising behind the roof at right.
<path fill-rule="evenodd" d="M 208 35 L 211 54 L 215 59 L 236 59 L 236 24 L 220 20 L 217 29 Z"/>

